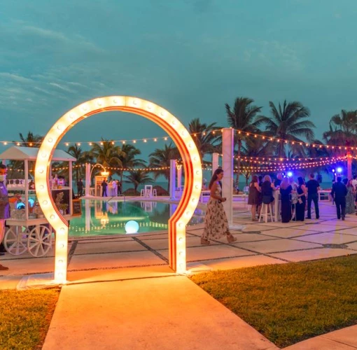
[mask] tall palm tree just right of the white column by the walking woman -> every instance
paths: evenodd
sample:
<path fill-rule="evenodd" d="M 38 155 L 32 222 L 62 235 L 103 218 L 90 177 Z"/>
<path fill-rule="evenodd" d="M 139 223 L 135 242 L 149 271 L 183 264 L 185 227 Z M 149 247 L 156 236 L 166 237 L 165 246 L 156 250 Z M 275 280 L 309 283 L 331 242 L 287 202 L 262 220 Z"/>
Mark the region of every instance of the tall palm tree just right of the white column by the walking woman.
<path fill-rule="evenodd" d="M 253 105 L 254 100 L 248 97 L 237 97 L 233 110 L 229 104 L 225 104 L 227 113 L 228 125 L 242 132 L 260 132 L 260 123 L 256 120 L 257 114 L 260 113 L 262 107 Z M 241 146 L 245 137 L 243 134 L 235 134 L 235 145 L 238 145 L 238 158 L 241 155 Z M 237 179 L 235 186 L 238 186 L 240 174 L 240 160 L 237 162 Z"/>

